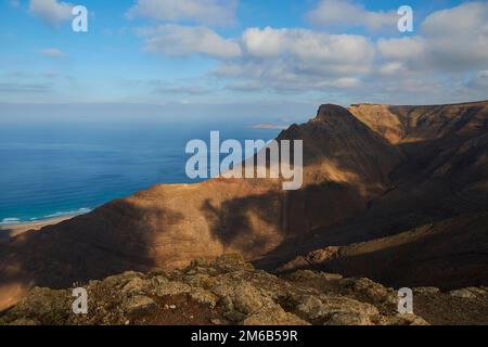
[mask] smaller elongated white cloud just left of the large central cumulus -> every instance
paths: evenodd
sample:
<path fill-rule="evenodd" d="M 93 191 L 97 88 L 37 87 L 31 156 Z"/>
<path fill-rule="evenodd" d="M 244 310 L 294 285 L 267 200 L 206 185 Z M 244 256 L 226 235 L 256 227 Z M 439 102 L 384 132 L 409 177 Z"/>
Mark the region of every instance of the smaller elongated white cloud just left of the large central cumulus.
<path fill-rule="evenodd" d="M 241 55 L 240 46 L 203 26 L 159 25 L 138 30 L 145 38 L 144 50 L 169 56 L 202 54 L 217 59 Z"/>

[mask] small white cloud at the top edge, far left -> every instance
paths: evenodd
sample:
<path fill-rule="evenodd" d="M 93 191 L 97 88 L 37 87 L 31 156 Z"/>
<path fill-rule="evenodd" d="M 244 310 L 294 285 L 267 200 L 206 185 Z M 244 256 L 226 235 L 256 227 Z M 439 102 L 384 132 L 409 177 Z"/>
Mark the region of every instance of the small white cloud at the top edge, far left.
<path fill-rule="evenodd" d="M 70 4 L 56 0 L 30 0 L 29 2 L 29 13 L 52 27 L 72 18 L 72 9 Z"/>

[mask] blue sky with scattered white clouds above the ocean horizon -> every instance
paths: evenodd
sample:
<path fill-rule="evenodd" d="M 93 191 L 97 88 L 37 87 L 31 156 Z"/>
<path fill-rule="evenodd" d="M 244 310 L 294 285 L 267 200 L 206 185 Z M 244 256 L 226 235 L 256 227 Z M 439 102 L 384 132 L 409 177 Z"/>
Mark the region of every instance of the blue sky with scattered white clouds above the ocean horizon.
<path fill-rule="evenodd" d="M 77 4 L 88 33 L 72 30 Z M 397 29 L 403 4 L 413 33 Z M 488 99 L 488 1 L 4 0 L 0 13 L 10 107 Z"/>

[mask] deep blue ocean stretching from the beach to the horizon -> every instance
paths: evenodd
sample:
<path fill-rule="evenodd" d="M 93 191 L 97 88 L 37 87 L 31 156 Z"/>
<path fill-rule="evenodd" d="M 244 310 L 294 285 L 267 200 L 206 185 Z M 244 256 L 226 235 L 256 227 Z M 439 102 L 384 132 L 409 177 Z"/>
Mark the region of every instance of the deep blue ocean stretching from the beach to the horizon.
<path fill-rule="evenodd" d="M 0 127 L 0 223 L 87 213 L 157 183 L 189 183 L 189 140 L 277 137 L 244 125 L 24 123 Z"/>

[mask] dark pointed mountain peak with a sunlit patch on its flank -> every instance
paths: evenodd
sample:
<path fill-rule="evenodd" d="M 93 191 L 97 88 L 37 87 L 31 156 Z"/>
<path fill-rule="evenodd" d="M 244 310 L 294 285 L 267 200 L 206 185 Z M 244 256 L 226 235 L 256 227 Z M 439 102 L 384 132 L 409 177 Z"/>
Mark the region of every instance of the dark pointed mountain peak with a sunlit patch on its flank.
<path fill-rule="evenodd" d="M 402 162 L 398 149 L 336 105 L 320 106 L 317 117 L 278 139 L 304 141 L 304 188 L 287 195 L 294 236 L 310 236 L 364 211 Z"/>

